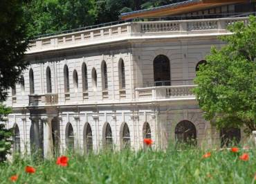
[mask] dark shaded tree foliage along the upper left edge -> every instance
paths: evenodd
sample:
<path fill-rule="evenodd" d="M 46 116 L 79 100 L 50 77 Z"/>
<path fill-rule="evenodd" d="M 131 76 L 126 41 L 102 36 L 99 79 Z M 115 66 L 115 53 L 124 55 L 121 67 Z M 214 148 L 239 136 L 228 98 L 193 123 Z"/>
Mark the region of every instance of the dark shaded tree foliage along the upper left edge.
<path fill-rule="evenodd" d="M 19 80 L 26 68 L 24 52 L 28 47 L 26 22 L 21 8 L 23 1 L 1 0 L 0 7 L 0 102 L 10 86 Z"/>

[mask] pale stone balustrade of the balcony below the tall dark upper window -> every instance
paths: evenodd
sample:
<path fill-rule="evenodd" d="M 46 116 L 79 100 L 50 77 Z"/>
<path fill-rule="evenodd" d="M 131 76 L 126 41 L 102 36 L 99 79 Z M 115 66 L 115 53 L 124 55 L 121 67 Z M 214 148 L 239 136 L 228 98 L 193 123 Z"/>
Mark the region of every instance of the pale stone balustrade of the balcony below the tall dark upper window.
<path fill-rule="evenodd" d="M 196 85 L 154 86 L 136 89 L 137 100 L 158 100 L 168 98 L 194 98 L 192 89 Z"/>

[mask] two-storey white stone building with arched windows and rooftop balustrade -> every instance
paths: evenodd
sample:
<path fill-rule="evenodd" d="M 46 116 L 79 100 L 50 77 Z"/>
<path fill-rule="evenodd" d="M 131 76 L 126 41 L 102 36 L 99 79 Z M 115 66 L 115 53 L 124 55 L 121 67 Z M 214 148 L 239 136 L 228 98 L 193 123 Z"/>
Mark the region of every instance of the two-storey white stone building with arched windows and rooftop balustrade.
<path fill-rule="evenodd" d="M 235 3 L 200 2 L 201 12 L 235 11 Z M 154 9 L 145 12 L 154 15 Z M 129 16 L 133 13 L 140 12 Z M 223 45 L 217 36 L 247 19 L 128 21 L 40 37 L 27 51 L 29 66 L 6 101 L 12 107 L 6 126 L 15 127 L 13 149 L 33 153 L 35 146 L 44 156 L 68 147 L 138 150 L 146 137 L 155 149 L 185 138 L 196 139 L 199 147 L 220 145 L 220 133 L 203 119 L 191 92 L 193 79 L 210 47 Z"/>

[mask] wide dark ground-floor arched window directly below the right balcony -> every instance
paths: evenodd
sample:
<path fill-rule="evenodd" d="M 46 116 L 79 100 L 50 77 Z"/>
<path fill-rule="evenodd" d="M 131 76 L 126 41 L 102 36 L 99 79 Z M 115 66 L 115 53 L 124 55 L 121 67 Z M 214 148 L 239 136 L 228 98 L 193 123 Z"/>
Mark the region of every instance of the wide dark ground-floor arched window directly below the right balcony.
<path fill-rule="evenodd" d="M 196 127 L 188 120 L 179 122 L 175 127 L 176 142 L 185 142 L 196 145 Z"/>

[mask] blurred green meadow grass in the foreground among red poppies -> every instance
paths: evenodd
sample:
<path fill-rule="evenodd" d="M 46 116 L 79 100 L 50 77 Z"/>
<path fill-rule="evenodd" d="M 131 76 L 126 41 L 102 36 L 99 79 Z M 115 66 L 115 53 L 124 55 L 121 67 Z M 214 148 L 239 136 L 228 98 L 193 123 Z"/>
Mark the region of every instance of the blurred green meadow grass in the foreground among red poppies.
<path fill-rule="evenodd" d="M 209 158 L 203 158 L 205 152 Z M 248 153 L 248 161 L 239 159 Z M 68 167 L 56 160 L 16 158 L 0 165 L 0 183 L 255 183 L 256 149 L 224 150 L 188 149 L 178 151 L 102 151 L 100 154 L 68 155 Z M 35 167 L 35 174 L 24 172 L 26 165 Z"/>

